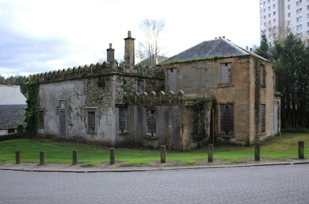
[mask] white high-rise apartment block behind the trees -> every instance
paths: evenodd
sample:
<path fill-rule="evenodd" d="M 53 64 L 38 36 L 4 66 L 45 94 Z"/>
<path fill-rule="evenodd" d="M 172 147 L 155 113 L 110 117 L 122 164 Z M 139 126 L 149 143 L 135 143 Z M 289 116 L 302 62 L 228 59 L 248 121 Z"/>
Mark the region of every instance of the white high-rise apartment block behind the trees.
<path fill-rule="evenodd" d="M 260 31 L 272 40 L 277 34 L 292 29 L 298 36 L 309 34 L 309 0 L 260 0 Z"/>

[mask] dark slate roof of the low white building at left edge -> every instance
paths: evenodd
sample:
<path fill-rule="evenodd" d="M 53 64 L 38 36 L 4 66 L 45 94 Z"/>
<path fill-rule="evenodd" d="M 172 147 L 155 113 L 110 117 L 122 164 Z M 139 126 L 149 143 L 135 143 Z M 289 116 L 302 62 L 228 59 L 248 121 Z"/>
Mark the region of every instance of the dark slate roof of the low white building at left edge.
<path fill-rule="evenodd" d="M 0 130 L 16 129 L 18 124 L 25 125 L 26 105 L 0 105 Z"/>

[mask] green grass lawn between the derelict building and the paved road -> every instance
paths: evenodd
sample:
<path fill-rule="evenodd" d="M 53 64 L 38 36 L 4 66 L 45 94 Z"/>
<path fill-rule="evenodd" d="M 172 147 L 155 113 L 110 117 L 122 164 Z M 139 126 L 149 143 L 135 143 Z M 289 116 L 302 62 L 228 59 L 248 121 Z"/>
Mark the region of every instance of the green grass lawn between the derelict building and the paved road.
<path fill-rule="evenodd" d="M 309 155 L 308 133 L 284 133 L 261 144 L 260 157 L 265 160 L 298 158 L 298 141 L 305 142 L 305 158 Z M 39 163 L 39 152 L 44 151 L 46 163 L 72 163 L 72 150 L 78 150 L 78 162 L 96 165 L 109 162 L 109 147 L 79 144 L 52 139 L 17 139 L 0 141 L 0 164 L 15 163 L 15 152 L 20 151 L 21 162 Z M 166 154 L 170 165 L 201 165 L 207 163 L 207 147 L 188 152 Z M 117 148 L 116 161 L 121 165 L 159 165 L 160 150 Z M 254 146 L 214 145 L 214 161 L 242 163 L 254 160 Z"/>

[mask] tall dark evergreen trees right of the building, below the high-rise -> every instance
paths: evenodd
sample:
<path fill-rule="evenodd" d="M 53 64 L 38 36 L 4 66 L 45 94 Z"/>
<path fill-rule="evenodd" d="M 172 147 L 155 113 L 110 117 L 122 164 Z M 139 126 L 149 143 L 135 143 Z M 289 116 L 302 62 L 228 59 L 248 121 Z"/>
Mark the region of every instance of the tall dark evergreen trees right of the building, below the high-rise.
<path fill-rule="evenodd" d="M 274 63 L 281 92 L 281 128 L 308 128 L 309 41 L 293 32 L 268 42 L 263 34 L 253 52 Z"/>

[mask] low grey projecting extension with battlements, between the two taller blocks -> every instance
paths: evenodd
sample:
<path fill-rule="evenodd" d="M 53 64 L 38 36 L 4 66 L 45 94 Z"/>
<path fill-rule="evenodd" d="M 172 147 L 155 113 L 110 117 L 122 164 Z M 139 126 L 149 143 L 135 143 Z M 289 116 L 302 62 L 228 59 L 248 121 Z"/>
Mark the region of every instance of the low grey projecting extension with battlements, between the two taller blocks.
<path fill-rule="evenodd" d="M 179 150 L 181 124 L 183 150 L 208 144 L 212 99 L 199 101 L 197 104 L 194 100 L 185 100 L 182 91 L 178 96 L 173 92 L 169 92 L 167 96 L 160 92 L 158 97 L 156 96 L 155 92 L 150 95 L 144 92 L 142 96 L 136 93 L 131 98 L 128 113 L 131 143 L 153 148 L 168 146 L 168 127 L 171 125 L 171 147 Z M 154 116 L 151 116 L 151 113 Z M 152 129 L 154 127 L 155 129 Z"/>

